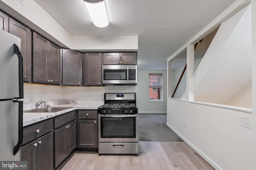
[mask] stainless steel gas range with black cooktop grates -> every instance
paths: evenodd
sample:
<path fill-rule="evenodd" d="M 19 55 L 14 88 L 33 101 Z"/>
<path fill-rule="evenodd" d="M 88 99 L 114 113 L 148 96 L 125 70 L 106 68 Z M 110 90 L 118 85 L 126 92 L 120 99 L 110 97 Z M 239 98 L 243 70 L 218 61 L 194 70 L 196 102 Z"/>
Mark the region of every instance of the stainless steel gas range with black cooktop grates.
<path fill-rule="evenodd" d="M 136 93 L 105 93 L 104 103 L 98 107 L 99 155 L 138 156 Z"/>

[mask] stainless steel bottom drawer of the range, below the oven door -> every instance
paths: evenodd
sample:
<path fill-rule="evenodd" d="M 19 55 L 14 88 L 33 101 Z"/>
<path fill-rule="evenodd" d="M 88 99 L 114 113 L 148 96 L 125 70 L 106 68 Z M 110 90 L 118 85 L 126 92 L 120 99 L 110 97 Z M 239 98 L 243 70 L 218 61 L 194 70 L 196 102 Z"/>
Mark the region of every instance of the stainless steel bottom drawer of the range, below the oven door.
<path fill-rule="evenodd" d="M 99 154 L 138 154 L 138 143 L 99 143 Z"/>

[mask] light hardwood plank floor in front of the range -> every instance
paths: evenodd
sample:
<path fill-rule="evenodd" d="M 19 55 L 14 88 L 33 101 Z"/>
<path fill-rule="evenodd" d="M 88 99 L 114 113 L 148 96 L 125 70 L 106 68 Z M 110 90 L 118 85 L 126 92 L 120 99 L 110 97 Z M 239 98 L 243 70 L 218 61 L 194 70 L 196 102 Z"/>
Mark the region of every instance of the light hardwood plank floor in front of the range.
<path fill-rule="evenodd" d="M 74 152 L 61 170 L 214 170 L 184 142 L 139 142 L 139 155 Z"/>

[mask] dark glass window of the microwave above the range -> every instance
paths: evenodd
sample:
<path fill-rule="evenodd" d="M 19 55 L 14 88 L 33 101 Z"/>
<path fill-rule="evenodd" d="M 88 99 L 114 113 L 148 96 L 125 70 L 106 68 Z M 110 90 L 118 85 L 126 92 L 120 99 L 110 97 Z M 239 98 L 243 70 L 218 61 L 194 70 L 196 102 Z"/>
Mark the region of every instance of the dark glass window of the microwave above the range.
<path fill-rule="evenodd" d="M 104 80 L 127 80 L 127 70 L 116 69 L 116 70 L 104 70 Z"/>

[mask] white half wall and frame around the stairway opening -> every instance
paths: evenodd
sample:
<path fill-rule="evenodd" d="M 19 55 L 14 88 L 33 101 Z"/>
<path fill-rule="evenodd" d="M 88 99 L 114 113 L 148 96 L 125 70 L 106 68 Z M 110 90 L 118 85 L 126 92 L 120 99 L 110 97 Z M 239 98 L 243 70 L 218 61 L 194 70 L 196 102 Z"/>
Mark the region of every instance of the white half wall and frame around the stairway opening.
<path fill-rule="evenodd" d="M 180 48 L 168 61 L 215 29 L 248 2 L 237 0 Z M 252 0 L 252 30 L 256 30 L 256 0 Z M 252 32 L 252 47 L 256 33 Z M 252 49 L 252 56 L 256 49 Z M 190 74 L 191 75 L 191 74 Z M 191 76 L 192 77 L 192 76 Z M 190 79 L 191 79 L 190 77 Z M 190 80 L 189 79 L 189 80 Z M 188 82 L 190 85 L 191 82 Z M 255 170 L 256 162 L 256 58 L 252 61 L 252 113 L 206 106 L 168 98 L 167 125 L 217 170 Z M 190 86 L 187 86 L 191 88 Z M 190 90 L 190 89 L 189 89 Z M 240 126 L 240 116 L 250 117 L 251 128 Z M 186 122 L 186 127 L 184 127 Z"/>

